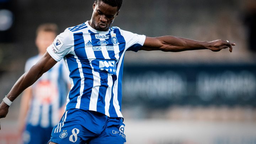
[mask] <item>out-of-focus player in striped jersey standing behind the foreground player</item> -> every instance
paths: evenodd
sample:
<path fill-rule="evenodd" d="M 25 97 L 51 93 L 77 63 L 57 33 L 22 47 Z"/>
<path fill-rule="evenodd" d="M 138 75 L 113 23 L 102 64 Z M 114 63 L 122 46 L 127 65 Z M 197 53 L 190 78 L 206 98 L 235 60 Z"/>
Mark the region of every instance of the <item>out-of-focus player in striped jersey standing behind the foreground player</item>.
<path fill-rule="evenodd" d="M 53 23 L 45 23 L 37 28 L 36 46 L 39 54 L 27 60 L 25 71 L 28 71 L 43 56 L 47 47 L 57 36 L 57 31 L 58 27 Z M 48 142 L 53 127 L 64 113 L 68 78 L 68 70 L 62 61 L 23 92 L 19 132 L 24 144 Z"/>

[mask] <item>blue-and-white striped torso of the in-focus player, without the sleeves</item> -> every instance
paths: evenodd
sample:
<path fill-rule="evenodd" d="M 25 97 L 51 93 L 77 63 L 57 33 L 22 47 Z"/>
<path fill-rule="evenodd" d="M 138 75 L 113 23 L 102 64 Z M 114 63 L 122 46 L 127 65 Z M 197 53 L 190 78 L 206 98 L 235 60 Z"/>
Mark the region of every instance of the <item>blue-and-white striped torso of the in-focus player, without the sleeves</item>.
<path fill-rule="evenodd" d="M 116 99 L 113 104 L 113 97 L 118 97 L 118 74 L 122 71 L 120 59 L 125 50 L 121 32 L 118 28 L 99 32 L 87 27 L 78 31 L 71 28 L 70 31 L 73 32 L 73 50 L 64 59 L 73 87 L 66 108 L 82 108 L 117 116 L 113 105 L 117 110 L 120 108 Z M 122 117 L 121 114 L 118 116 Z"/>

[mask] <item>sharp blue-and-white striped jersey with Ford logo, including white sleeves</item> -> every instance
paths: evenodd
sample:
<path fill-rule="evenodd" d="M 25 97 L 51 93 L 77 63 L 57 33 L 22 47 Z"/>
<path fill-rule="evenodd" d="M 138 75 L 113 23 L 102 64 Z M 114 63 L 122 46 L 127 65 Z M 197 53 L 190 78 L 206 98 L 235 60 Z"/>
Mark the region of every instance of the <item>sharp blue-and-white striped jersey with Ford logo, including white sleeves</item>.
<path fill-rule="evenodd" d="M 123 59 L 126 50 L 137 52 L 145 36 L 112 27 L 94 30 L 88 21 L 59 34 L 47 52 L 64 58 L 71 79 L 66 110 L 80 108 L 108 117 L 121 114 Z"/>

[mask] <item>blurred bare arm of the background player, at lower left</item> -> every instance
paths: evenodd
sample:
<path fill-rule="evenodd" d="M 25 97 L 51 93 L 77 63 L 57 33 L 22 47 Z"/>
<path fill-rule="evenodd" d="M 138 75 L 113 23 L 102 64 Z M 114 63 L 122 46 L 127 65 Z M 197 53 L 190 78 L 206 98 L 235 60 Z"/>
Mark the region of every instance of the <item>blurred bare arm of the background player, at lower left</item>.
<path fill-rule="evenodd" d="M 19 113 L 19 117 L 18 117 L 18 132 L 19 132 L 19 134 L 22 134 L 22 132 L 25 128 L 27 112 L 30 108 L 31 100 L 32 100 L 32 88 L 28 87 L 26 90 L 24 90 L 22 97 L 21 97 L 20 113 Z"/>

